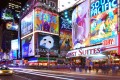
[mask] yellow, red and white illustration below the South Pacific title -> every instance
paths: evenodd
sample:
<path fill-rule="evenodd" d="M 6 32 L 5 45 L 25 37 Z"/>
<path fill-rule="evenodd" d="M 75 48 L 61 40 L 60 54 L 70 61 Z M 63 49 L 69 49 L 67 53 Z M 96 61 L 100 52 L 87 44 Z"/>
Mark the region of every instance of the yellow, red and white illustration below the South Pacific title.
<path fill-rule="evenodd" d="M 90 44 L 102 43 L 103 40 L 117 35 L 117 10 L 113 8 L 91 18 Z"/>

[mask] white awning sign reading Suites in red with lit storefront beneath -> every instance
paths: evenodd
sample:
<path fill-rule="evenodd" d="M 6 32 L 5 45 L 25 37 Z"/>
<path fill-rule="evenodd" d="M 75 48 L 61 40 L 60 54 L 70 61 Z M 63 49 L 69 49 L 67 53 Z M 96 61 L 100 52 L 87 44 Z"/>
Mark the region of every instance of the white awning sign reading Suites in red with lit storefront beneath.
<path fill-rule="evenodd" d="M 102 45 L 91 46 L 87 48 L 81 48 L 69 51 L 66 57 L 73 63 L 85 65 L 87 60 L 104 60 L 107 58 L 105 54 L 101 51 Z"/>

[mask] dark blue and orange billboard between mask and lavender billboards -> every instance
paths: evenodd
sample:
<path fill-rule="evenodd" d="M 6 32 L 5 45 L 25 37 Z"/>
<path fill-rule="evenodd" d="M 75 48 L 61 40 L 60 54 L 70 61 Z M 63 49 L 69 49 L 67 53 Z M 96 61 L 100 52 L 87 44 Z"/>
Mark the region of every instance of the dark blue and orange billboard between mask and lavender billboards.
<path fill-rule="evenodd" d="M 72 23 L 60 17 L 60 51 L 69 51 L 72 48 Z"/>

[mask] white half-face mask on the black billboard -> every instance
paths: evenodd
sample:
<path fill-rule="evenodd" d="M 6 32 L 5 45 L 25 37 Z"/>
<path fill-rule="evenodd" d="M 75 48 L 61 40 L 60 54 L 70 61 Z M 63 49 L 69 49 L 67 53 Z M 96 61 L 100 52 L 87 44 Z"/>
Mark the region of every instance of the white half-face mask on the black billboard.
<path fill-rule="evenodd" d="M 45 36 L 40 41 L 40 46 L 51 49 L 54 46 L 54 39 L 51 36 Z"/>

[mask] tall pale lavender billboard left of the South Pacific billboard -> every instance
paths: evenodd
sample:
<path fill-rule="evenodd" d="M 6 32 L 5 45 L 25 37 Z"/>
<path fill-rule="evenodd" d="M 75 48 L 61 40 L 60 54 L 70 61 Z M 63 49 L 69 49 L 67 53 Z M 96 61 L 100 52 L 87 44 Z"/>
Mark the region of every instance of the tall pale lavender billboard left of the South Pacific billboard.
<path fill-rule="evenodd" d="M 74 49 L 89 45 L 89 29 L 89 0 L 86 0 L 77 6 L 72 13 L 72 41 Z"/>

